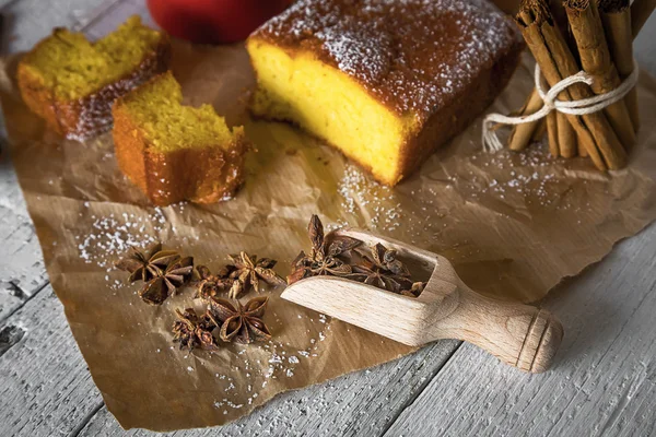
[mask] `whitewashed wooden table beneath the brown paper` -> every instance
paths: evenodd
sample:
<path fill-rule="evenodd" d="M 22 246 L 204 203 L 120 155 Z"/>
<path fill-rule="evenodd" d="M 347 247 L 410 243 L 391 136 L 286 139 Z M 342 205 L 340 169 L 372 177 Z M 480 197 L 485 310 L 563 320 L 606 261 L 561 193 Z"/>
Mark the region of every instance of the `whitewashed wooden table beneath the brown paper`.
<path fill-rule="evenodd" d="M 0 0 L 2 50 L 78 28 L 118 1 Z M 636 42 L 656 73 L 656 17 Z M 656 110 L 656 108 L 651 108 Z M 654 127 L 651 127 L 654 128 Z M 656 225 L 542 304 L 565 327 L 553 370 L 501 365 L 444 341 L 371 370 L 284 394 L 235 424 L 184 436 L 656 436 Z M 107 412 L 66 322 L 8 161 L 0 157 L 0 436 L 147 435 Z"/>

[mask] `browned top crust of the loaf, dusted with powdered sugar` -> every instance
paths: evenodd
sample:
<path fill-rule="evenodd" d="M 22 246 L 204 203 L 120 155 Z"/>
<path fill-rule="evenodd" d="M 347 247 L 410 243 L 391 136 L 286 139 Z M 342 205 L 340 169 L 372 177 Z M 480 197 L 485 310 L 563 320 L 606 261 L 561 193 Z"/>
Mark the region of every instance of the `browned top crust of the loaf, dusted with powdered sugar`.
<path fill-rule="evenodd" d="M 487 0 L 300 0 L 250 37 L 309 51 L 395 113 L 423 119 L 522 44 Z"/>

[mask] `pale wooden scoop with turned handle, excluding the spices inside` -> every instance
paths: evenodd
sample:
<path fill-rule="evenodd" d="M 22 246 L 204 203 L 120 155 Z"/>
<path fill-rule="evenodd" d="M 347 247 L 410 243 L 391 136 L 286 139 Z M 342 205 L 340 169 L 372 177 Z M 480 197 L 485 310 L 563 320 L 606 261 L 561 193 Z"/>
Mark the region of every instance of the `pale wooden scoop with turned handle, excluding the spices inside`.
<path fill-rule="evenodd" d="M 441 339 L 476 344 L 525 371 L 549 368 L 563 327 L 549 311 L 482 296 L 462 283 L 448 260 L 363 231 L 338 235 L 396 249 L 430 280 L 419 297 L 407 297 L 336 276 L 313 276 L 290 285 L 282 298 L 398 342 L 420 346 Z"/>

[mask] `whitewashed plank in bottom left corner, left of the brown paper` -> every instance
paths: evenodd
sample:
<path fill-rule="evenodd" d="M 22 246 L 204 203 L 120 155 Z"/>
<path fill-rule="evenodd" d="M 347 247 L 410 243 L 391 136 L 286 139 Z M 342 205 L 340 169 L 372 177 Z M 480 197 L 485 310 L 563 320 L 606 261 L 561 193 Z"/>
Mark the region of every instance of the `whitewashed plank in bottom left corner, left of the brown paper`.
<path fill-rule="evenodd" d="M 102 405 L 48 285 L 0 326 L 0 436 L 70 434 Z"/>

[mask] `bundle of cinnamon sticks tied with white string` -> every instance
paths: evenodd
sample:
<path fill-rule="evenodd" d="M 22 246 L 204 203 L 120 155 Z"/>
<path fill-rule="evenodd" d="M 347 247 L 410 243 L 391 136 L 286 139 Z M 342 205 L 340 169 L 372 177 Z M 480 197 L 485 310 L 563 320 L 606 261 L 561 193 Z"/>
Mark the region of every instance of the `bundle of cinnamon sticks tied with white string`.
<path fill-rule="evenodd" d="M 590 86 L 576 83 L 558 96 L 578 101 L 616 90 L 633 72 L 633 38 L 656 0 L 522 0 L 516 16 L 524 39 L 549 86 L 585 71 Z M 543 103 L 534 88 L 519 115 L 536 113 Z M 623 99 L 587 115 L 552 111 L 546 119 L 517 125 L 508 147 L 524 150 L 547 131 L 554 156 L 589 156 L 597 168 L 619 169 L 640 126 L 637 98 L 633 88 Z"/>

